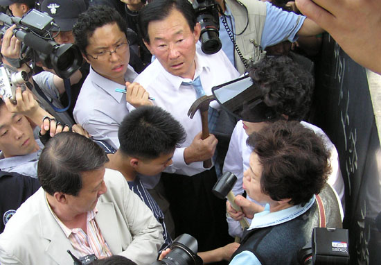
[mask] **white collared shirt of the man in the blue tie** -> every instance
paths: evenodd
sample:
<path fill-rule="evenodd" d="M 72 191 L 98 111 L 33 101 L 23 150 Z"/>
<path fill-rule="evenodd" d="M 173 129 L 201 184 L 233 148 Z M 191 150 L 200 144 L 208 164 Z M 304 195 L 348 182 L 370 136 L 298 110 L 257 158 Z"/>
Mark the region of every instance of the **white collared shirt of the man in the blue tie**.
<path fill-rule="evenodd" d="M 195 78 L 200 76 L 202 87 L 206 95 L 211 95 L 211 88 L 215 85 L 226 83 L 238 78 L 238 71 L 231 65 L 227 55 L 219 51 L 213 55 L 206 55 L 197 43 L 195 63 Z M 135 82 L 140 83 L 154 97 L 154 104 L 170 112 L 184 126 L 186 141 L 176 148 L 173 155 L 173 164 L 166 171 L 187 176 L 193 176 L 204 171 L 202 162 L 187 165 L 184 161 L 184 149 L 193 142 L 193 138 L 202 130 L 201 117 L 198 112 L 193 119 L 188 117 L 188 110 L 196 100 L 196 92 L 192 86 L 181 85 L 182 82 L 191 81 L 188 78 L 173 76 L 164 69 L 159 60 L 154 60 L 139 76 Z M 216 101 L 211 102 L 211 107 L 219 109 Z"/>

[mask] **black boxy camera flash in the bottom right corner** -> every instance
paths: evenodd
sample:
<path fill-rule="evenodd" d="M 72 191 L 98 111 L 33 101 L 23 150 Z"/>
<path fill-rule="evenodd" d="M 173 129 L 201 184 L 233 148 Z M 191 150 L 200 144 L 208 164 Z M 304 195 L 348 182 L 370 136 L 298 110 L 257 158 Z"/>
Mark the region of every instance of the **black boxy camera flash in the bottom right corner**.
<path fill-rule="evenodd" d="M 300 265 L 349 264 L 348 230 L 314 228 L 311 242 L 298 252 Z"/>

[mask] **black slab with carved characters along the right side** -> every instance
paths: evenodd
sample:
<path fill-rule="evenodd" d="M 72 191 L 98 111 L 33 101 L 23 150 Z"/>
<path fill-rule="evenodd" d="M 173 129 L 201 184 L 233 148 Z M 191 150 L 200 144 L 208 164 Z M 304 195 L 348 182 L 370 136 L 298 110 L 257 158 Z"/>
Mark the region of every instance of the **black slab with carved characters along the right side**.
<path fill-rule="evenodd" d="M 381 148 L 366 70 L 328 34 L 316 69 L 310 122 L 326 132 L 339 152 L 351 264 L 381 264 L 381 233 L 375 227 L 381 212 Z"/>

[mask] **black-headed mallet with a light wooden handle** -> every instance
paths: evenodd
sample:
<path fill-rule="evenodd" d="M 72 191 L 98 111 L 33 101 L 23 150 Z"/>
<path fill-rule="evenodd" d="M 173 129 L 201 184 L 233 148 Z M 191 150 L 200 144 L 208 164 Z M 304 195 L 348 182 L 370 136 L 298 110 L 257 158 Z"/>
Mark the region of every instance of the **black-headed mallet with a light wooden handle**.
<path fill-rule="evenodd" d="M 233 207 L 234 210 L 236 211 L 242 211 L 242 209 L 234 203 L 234 199 L 236 198 L 233 194 L 233 189 L 234 184 L 236 184 L 237 177 L 231 173 L 231 172 L 225 172 L 222 177 L 215 182 L 215 185 L 212 189 L 212 192 L 215 196 L 217 196 L 220 199 L 224 199 L 227 197 L 229 200 L 229 203 L 231 204 L 231 207 Z M 249 228 L 249 222 L 246 220 L 246 218 L 242 218 L 240 220 L 240 224 L 242 229 Z"/>

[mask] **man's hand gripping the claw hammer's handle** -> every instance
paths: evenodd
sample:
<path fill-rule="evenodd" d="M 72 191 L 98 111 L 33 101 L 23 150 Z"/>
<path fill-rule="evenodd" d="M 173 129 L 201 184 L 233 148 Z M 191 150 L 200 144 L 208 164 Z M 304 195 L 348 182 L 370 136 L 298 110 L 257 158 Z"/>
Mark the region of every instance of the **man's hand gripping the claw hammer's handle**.
<path fill-rule="evenodd" d="M 186 164 L 198 161 L 205 161 L 213 157 L 218 139 L 214 135 L 209 135 L 201 139 L 202 132 L 199 132 L 193 139 L 192 144 L 184 150 L 184 160 Z"/>

